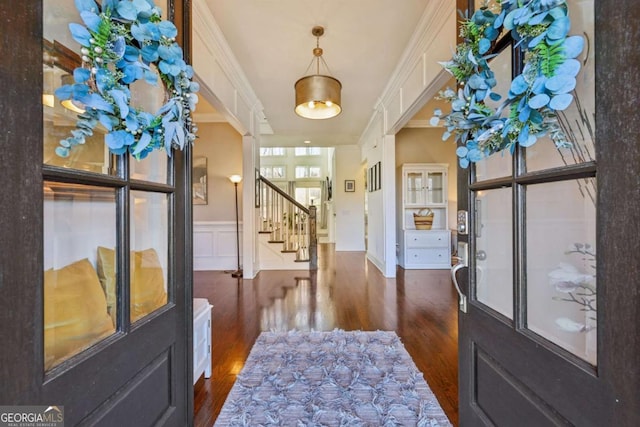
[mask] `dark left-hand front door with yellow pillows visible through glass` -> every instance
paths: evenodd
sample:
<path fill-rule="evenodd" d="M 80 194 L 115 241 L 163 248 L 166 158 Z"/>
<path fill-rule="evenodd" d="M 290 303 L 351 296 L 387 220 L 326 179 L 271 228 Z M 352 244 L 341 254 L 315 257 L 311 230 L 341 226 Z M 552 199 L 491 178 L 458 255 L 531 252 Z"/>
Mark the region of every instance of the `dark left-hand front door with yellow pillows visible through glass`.
<path fill-rule="evenodd" d="M 183 4 L 156 4 L 186 45 Z M 73 0 L 0 5 L 0 404 L 191 425 L 190 153 L 115 156 L 98 130 L 55 154 L 77 119 L 51 96 L 79 65 L 70 22 Z M 144 109 L 162 100 L 135 90 Z"/>

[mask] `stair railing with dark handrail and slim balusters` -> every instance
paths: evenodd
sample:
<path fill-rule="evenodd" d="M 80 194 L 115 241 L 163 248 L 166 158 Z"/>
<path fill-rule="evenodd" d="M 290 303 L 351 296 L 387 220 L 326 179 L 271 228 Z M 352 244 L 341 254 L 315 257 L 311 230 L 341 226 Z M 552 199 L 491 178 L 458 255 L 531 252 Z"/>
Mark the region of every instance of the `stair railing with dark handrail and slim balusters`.
<path fill-rule="evenodd" d="M 316 207 L 304 207 L 262 175 L 260 184 L 260 233 L 269 233 L 270 243 L 282 243 L 282 252 L 295 252 L 296 261 L 317 270 Z"/>

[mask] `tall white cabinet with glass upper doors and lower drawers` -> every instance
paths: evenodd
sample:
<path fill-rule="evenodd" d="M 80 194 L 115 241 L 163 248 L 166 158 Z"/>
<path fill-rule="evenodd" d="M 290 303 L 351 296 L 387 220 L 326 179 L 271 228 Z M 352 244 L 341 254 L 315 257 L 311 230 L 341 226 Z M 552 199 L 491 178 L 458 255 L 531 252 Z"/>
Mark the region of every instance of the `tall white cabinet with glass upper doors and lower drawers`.
<path fill-rule="evenodd" d="M 406 163 L 398 169 L 398 263 L 405 269 L 451 267 L 446 164 Z M 414 214 L 433 213 L 430 230 L 417 229 Z"/>

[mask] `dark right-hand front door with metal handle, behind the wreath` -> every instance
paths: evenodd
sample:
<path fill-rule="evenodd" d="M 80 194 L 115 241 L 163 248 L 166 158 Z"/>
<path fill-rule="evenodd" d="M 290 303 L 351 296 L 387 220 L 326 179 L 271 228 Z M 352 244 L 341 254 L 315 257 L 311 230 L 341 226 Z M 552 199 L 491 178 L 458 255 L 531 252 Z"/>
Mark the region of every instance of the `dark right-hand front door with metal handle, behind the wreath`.
<path fill-rule="evenodd" d="M 459 169 L 461 426 L 640 425 L 640 7 L 568 4 L 587 41 L 573 147 Z M 502 46 L 504 94 L 522 62 Z"/>

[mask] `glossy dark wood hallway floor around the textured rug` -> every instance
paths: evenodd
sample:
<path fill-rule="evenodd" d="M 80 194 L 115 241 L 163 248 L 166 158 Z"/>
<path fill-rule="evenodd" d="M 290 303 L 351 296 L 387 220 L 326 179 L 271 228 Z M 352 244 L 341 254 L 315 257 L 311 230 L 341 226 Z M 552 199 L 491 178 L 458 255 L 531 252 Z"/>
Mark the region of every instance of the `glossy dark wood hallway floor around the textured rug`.
<path fill-rule="evenodd" d="M 386 279 L 364 252 L 319 247 L 318 271 L 262 271 L 253 280 L 195 272 L 194 296 L 213 304 L 211 378 L 195 386 L 195 426 L 213 425 L 261 331 L 392 330 L 458 425 L 458 314 L 449 270 Z"/>

